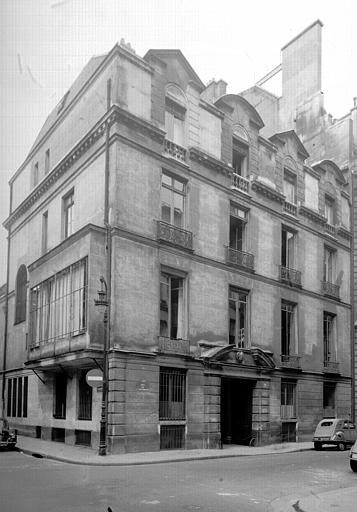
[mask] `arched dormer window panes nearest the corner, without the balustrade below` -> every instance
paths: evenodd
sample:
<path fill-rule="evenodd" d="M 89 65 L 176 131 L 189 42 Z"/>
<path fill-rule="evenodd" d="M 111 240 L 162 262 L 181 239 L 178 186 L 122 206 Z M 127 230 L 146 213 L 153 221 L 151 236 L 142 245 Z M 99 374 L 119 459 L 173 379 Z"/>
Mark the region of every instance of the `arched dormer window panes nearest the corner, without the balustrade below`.
<path fill-rule="evenodd" d="M 179 87 L 170 84 L 165 93 L 166 138 L 179 146 L 185 146 L 186 98 Z"/>

